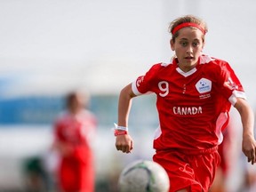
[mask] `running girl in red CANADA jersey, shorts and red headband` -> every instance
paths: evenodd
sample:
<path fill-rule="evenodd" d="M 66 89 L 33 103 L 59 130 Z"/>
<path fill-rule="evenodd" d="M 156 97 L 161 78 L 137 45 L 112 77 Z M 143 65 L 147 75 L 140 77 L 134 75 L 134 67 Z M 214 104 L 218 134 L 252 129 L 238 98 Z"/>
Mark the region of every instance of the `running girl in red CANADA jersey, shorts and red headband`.
<path fill-rule="evenodd" d="M 186 15 L 170 24 L 175 56 L 171 63 L 153 65 L 120 92 L 116 149 L 132 150 L 128 116 L 132 98 L 154 92 L 160 126 L 153 160 L 168 172 L 170 191 L 208 191 L 220 164 L 218 145 L 234 106 L 243 124 L 243 152 L 255 163 L 254 117 L 242 84 L 225 60 L 202 53 L 207 27 Z M 231 159 L 230 159 L 231 160 Z"/>

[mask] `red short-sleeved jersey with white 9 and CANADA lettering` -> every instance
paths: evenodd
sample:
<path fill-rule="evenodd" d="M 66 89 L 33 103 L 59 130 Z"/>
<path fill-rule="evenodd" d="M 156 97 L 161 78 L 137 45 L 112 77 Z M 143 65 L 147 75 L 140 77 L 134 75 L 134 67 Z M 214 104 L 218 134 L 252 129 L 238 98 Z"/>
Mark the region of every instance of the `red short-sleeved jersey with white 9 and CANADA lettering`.
<path fill-rule="evenodd" d="M 206 55 L 196 68 L 183 72 L 177 64 L 158 63 L 132 83 L 136 95 L 156 93 L 160 126 L 154 148 L 197 150 L 212 148 L 223 139 L 228 111 L 245 93 L 224 60 Z"/>

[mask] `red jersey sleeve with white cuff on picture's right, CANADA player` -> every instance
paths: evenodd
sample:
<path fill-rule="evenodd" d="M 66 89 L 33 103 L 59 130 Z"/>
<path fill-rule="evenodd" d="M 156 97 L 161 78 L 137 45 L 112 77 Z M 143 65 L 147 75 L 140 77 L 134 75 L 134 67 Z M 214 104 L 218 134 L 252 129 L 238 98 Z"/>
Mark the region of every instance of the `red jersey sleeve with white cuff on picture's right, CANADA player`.
<path fill-rule="evenodd" d="M 236 104 L 236 98 L 243 98 L 246 100 L 243 85 L 240 83 L 234 70 L 227 62 L 221 65 L 220 74 L 222 80 L 221 92 L 228 98 L 229 102 L 234 106 Z"/>

